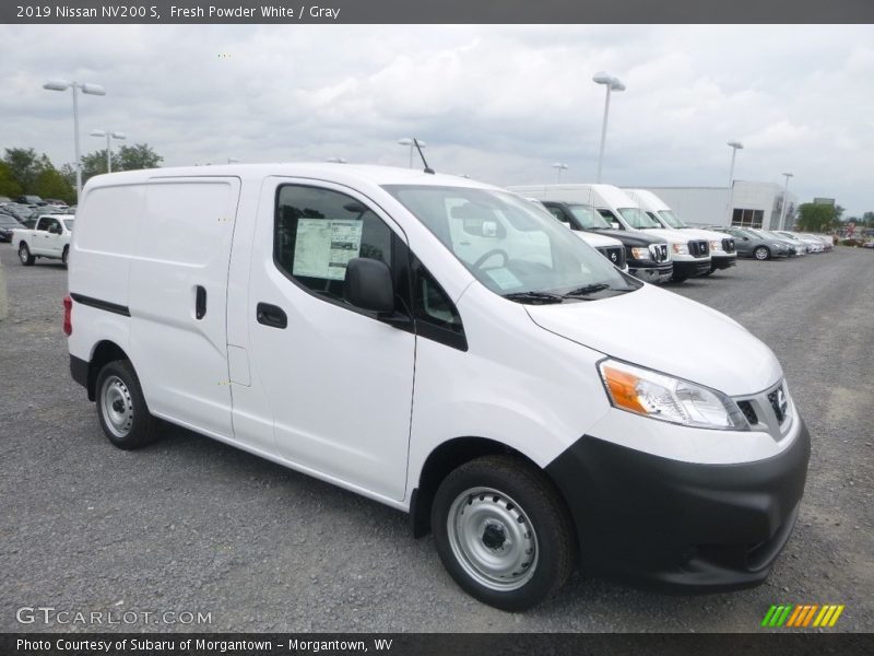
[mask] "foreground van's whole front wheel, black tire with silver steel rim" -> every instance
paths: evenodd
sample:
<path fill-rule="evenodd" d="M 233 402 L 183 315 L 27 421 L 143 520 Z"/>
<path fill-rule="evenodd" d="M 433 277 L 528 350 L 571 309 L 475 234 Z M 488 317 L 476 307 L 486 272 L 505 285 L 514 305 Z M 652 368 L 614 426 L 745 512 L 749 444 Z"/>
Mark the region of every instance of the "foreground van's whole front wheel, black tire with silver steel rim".
<path fill-rule="evenodd" d="M 456 583 L 501 610 L 538 605 L 576 563 L 574 523 L 558 491 L 542 471 L 510 456 L 476 458 L 446 477 L 432 506 L 432 529 Z M 504 571 L 483 573 L 479 553 L 504 559 Z"/>

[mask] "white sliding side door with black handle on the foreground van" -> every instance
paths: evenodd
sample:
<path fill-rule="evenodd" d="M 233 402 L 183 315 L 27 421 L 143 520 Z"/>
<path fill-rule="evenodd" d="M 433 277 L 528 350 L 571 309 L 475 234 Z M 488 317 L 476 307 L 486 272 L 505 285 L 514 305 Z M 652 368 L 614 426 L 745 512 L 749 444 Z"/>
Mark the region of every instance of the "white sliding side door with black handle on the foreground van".
<path fill-rule="evenodd" d="M 130 265 L 130 355 L 154 414 L 229 437 L 227 268 L 237 178 L 145 187 Z"/>

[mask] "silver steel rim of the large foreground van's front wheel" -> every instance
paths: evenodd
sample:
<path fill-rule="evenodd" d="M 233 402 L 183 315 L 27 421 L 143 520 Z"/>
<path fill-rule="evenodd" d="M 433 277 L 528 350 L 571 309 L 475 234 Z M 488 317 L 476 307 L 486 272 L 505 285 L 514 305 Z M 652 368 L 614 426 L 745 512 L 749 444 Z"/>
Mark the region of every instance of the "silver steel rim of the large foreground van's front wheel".
<path fill-rule="evenodd" d="M 538 535 L 524 511 L 492 488 L 472 488 L 449 508 L 452 553 L 481 585 L 507 591 L 522 587 L 538 567 Z"/>

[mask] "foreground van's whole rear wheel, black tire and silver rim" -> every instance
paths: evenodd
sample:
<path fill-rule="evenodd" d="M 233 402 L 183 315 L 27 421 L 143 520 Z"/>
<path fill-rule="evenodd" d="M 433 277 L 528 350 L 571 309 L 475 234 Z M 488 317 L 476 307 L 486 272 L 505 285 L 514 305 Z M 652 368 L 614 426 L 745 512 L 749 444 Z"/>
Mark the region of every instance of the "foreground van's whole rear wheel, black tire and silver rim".
<path fill-rule="evenodd" d="M 95 386 L 97 418 L 118 448 L 140 448 L 157 436 L 157 419 L 149 412 L 140 380 L 127 360 L 104 365 Z"/>

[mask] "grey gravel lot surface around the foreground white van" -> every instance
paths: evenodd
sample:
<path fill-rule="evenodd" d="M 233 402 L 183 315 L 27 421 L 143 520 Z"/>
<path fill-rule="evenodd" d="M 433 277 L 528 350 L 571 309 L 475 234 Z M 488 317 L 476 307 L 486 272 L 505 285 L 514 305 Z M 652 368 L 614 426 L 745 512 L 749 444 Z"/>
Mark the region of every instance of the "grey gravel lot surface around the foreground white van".
<path fill-rule="evenodd" d="M 211 624 L 128 631 L 757 631 L 771 604 L 845 604 L 874 631 L 874 251 L 742 260 L 669 289 L 777 353 L 813 438 L 795 534 L 766 585 L 666 596 L 575 574 L 525 614 L 482 606 L 406 516 L 180 429 L 126 453 L 69 375 L 66 270 L 8 244 L 0 324 L 0 631 L 16 609 L 189 611 Z M 743 353 L 737 353 L 743 358 Z"/>

